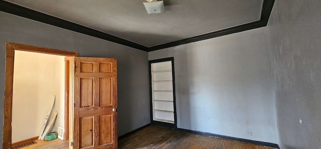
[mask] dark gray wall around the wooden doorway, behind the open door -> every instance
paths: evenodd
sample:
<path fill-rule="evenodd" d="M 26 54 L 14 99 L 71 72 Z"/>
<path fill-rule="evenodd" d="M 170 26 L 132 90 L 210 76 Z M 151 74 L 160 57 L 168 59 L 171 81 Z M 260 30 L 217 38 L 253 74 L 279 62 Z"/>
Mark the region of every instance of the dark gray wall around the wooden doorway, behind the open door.
<path fill-rule="evenodd" d="M 147 52 L 5 12 L 0 12 L 0 22 L 0 123 L 4 122 L 6 42 L 77 51 L 80 56 L 117 58 L 118 135 L 150 122 Z"/>

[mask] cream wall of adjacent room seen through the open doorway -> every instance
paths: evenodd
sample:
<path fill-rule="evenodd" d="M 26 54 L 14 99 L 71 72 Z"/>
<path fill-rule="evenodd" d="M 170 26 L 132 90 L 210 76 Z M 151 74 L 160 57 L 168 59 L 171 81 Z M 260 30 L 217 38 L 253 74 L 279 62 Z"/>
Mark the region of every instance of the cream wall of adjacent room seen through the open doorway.
<path fill-rule="evenodd" d="M 40 134 L 56 95 L 55 127 L 64 126 L 64 56 L 15 51 L 12 142 Z"/>

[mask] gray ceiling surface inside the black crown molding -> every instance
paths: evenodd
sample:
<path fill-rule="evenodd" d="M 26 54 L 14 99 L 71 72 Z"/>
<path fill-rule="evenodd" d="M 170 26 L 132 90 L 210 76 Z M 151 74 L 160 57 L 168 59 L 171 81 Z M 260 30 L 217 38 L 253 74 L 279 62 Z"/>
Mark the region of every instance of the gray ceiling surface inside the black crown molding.
<path fill-rule="evenodd" d="M 5 0 L 145 47 L 184 40 L 261 19 L 263 0 L 164 0 L 147 14 L 144 0 Z"/>

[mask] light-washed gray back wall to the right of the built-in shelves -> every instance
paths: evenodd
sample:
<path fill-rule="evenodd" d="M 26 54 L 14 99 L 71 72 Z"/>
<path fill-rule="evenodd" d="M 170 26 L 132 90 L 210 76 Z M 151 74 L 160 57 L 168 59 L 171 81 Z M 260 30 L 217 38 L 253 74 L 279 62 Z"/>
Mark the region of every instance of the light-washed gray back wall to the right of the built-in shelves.
<path fill-rule="evenodd" d="M 266 27 L 148 52 L 170 56 L 178 127 L 277 143 Z"/>

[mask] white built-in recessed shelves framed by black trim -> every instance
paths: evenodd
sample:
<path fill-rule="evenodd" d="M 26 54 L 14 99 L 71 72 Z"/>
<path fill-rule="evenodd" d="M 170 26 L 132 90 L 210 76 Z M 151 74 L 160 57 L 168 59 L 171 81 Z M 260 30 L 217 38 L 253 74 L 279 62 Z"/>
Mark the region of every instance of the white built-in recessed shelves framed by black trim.
<path fill-rule="evenodd" d="M 151 117 L 153 121 L 176 124 L 173 77 L 172 60 L 150 62 Z"/>

